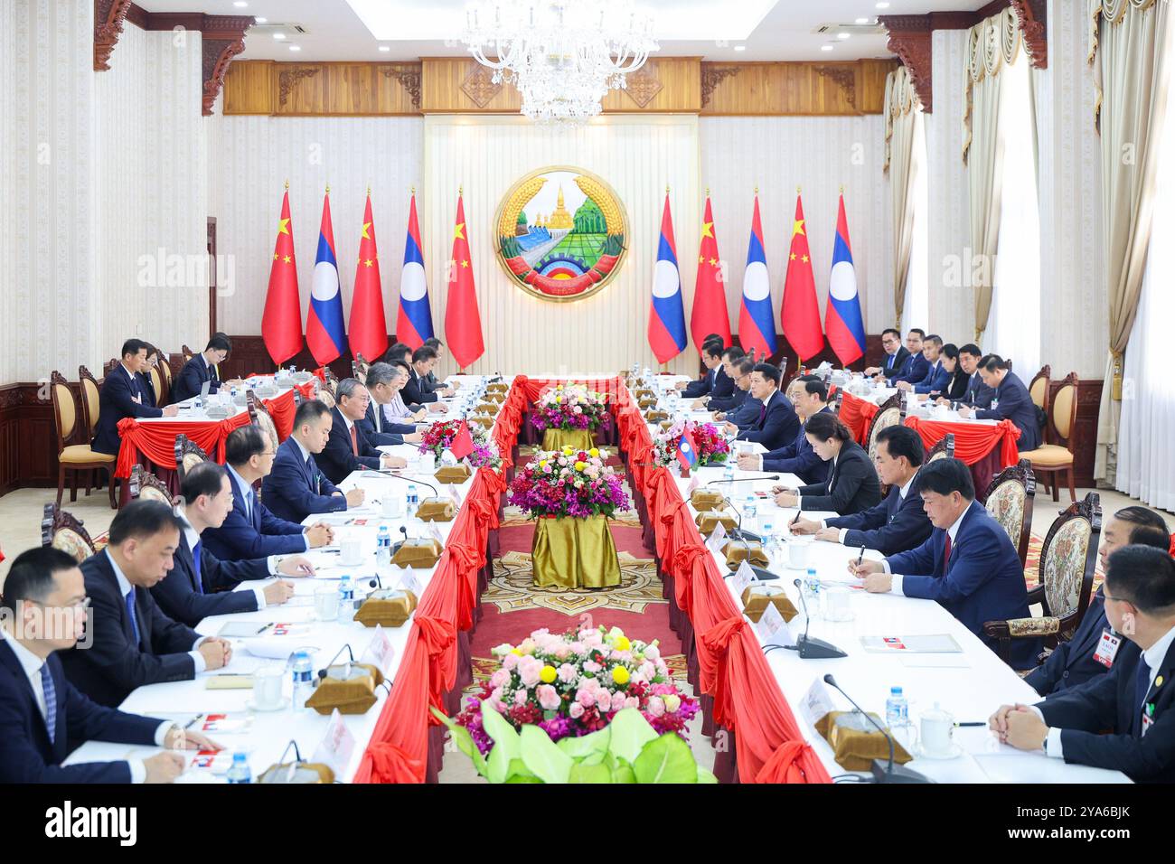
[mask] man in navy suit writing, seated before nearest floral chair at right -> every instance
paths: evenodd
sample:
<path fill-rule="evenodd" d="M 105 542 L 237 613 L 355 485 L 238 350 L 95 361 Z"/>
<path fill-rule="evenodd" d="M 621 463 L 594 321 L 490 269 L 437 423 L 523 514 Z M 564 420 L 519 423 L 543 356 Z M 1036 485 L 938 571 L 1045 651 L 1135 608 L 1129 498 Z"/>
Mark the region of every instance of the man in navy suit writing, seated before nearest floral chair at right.
<path fill-rule="evenodd" d="M 975 501 L 971 469 L 942 458 L 920 473 L 922 504 L 934 530 L 908 552 L 882 561 L 850 560 L 850 570 L 866 591 L 934 600 L 985 644 L 987 621 L 1028 617 L 1028 591 L 1020 556 L 1008 533 Z M 1012 665 L 1030 669 L 1040 639 L 1016 639 Z"/>

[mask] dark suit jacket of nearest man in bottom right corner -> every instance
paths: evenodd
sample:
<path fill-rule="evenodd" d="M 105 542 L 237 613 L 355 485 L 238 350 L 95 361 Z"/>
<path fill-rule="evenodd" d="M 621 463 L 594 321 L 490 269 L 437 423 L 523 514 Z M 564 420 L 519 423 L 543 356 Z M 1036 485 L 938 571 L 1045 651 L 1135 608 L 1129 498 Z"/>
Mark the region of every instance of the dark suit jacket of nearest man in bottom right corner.
<path fill-rule="evenodd" d="M 1136 682 L 1142 654 L 1132 651 L 1122 657 L 1120 650 L 1119 655 L 1106 675 L 1038 702 L 1036 708 L 1049 726 L 1062 730 L 1066 762 L 1114 769 L 1135 783 L 1173 783 L 1175 645 L 1167 650 L 1154 683 L 1141 699 Z M 1140 736 L 1143 705 L 1154 705 L 1154 723 Z"/>

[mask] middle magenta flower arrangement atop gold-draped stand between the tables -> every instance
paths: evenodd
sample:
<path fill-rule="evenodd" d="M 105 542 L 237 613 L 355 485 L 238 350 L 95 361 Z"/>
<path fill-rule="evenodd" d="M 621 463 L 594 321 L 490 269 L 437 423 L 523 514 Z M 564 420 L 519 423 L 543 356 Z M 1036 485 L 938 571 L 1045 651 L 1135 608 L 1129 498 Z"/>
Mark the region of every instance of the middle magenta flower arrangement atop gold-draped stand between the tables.
<path fill-rule="evenodd" d="M 590 450 L 539 451 L 515 474 L 510 503 L 531 517 L 607 516 L 629 509 L 629 494 L 606 454 Z"/>

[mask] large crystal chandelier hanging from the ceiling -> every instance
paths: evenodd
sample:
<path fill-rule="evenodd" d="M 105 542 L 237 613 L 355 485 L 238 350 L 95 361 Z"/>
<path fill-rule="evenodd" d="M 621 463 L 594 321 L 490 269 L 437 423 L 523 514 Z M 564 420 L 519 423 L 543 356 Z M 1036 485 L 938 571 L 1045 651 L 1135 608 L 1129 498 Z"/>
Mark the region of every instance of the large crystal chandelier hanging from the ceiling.
<path fill-rule="evenodd" d="M 478 0 L 462 41 L 494 83 L 515 85 L 528 118 L 579 123 L 657 51 L 652 31 L 632 0 Z"/>

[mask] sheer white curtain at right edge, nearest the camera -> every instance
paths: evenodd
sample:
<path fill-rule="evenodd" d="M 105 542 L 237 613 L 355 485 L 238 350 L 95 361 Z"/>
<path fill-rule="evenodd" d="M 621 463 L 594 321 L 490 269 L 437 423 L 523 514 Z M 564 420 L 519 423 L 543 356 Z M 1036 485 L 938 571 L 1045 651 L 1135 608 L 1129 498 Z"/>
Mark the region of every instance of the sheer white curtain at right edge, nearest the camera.
<path fill-rule="evenodd" d="M 1154 222 L 1139 308 L 1122 374 L 1122 415 L 1115 487 L 1152 507 L 1175 510 L 1175 377 L 1170 374 L 1170 322 L 1175 320 L 1175 125 L 1159 142 Z"/>

